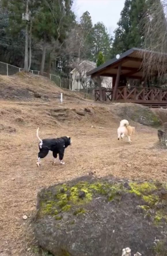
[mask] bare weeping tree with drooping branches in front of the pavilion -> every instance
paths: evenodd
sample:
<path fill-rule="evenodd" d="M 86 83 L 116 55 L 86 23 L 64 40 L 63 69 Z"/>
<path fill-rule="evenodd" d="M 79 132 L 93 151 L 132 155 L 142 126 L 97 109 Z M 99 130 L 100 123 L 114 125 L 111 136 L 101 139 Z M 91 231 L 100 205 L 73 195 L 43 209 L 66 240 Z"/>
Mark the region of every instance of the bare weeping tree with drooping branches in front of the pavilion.
<path fill-rule="evenodd" d="M 167 72 L 167 1 L 155 0 L 145 13 L 143 29 L 143 71 L 145 79 L 158 75 L 164 78 Z M 157 73 L 158 71 L 158 73 Z"/>

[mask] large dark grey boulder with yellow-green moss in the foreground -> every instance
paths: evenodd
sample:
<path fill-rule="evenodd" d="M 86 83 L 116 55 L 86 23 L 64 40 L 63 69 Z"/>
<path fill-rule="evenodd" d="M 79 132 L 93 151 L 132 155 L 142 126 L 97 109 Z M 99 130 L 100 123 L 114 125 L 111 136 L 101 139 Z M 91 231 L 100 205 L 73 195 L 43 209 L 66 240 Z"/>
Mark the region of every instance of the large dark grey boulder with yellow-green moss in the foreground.
<path fill-rule="evenodd" d="M 120 256 L 128 246 L 132 255 L 155 256 L 155 237 L 165 241 L 167 188 L 161 183 L 84 176 L 37 198 L 35 236 L 53 255 Z"/>

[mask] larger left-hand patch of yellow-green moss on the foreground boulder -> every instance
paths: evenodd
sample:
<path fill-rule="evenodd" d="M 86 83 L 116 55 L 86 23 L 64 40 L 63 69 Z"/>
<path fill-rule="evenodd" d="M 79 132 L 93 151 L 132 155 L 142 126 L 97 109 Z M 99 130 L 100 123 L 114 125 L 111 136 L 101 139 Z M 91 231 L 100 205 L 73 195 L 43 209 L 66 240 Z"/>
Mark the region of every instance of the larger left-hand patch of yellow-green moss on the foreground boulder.
<path fill-rule="evenodd" d="M 91 202 L 96 195 L 107 196 L 107 200 L 111 201 L 114 198 L 120 198 L 119 191 L 123 189 L 123 185 L 120 183 L 109 184 L 104 181 L 94 183 L 80 181 L 73 186 L 62 184 L 56 188 L 56 193 L 52 193 L 52 191 L 44 192 L 38 217 L 43 215 L 55 217 L 62 211 L 73 211 L 74 215 L 85 213 L 86 211 L 81 206 Z M 84 196 L 80 197 L 80 194 Z M 59 216 L 55 219 L 59 219 Z"/>

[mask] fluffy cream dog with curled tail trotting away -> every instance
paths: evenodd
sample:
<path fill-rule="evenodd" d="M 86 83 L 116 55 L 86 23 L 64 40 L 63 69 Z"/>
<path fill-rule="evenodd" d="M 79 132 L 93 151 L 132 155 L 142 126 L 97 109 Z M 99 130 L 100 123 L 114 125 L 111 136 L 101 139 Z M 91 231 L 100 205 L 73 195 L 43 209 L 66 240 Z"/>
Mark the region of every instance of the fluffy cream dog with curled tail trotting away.
<path fill-rule="evenodd" d="M 135 127 L 132 127 L 129 125 L 129 122 L 125 119 L 120 121 L 119 128 L 117 130 L 118 132 L 118 140 L 123 139 L 124 136 L 128 138 L 128 143 L 131 143 L 130 136 L 134 133 Z"/>

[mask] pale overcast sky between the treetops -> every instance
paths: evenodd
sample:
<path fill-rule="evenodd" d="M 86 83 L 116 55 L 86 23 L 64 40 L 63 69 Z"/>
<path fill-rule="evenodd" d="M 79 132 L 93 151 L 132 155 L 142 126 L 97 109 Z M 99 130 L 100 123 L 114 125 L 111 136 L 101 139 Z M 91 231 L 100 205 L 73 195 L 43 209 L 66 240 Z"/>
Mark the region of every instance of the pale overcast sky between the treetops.
<path fill-rule="evenodd" d="M 120 12 L 124 7 L 124 2 L 125 0 L 75 0 L 73 11 L 77 16 L 77 21 L 80 20 L 83 12 L 88 11 L 93 24 L 102 21 L 109 33 L 113 34 L 120 18 Z"/>

